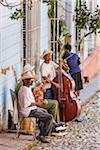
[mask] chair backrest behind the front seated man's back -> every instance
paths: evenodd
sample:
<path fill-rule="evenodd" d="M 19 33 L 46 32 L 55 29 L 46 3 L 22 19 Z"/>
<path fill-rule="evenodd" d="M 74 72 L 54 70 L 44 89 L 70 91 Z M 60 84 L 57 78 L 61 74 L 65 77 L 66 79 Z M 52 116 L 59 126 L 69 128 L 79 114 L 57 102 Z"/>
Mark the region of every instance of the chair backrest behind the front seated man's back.
<path fill-rule="evenodd" d="M 17 124 L 18 123 L 18 100 L 17 100 L 16 93 L 12 89 L 10 89 L 10 94 L 11 94 L 12 105 L 13 105 L 13 113 L 11 113 L 11 115 L 14 124 Z"/>

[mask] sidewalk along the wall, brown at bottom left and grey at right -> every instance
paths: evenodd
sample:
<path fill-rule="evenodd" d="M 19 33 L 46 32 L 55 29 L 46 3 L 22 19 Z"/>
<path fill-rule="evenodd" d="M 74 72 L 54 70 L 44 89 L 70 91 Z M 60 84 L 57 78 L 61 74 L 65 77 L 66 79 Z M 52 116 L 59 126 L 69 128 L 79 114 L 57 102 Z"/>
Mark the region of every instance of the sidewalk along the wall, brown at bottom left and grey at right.
<path fill-rule="evenodd" d="M 91 79 L 81 91 L 80 98 L 82 103 L 91 98 L 99 90 L 100 74 Z M 0 133 L 0 150 L 24 150 L 25 147 L 32 144 L 32 141 L 32 135 L 20 135 L 20 138 L 16 139 L 15 133 Z"/>

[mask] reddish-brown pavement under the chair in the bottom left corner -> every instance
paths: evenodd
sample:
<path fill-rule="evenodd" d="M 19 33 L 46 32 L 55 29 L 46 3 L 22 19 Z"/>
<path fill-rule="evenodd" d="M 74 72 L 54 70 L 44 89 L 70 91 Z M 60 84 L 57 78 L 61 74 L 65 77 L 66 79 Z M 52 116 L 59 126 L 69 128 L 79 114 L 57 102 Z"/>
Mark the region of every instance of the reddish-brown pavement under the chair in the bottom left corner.
<path fill-rule="evenodd" d="M 0 133 L 0 150 L 24 150 L 32 144 L 32 135 L 20 135 L 15 138 L 15 133 Z"/>

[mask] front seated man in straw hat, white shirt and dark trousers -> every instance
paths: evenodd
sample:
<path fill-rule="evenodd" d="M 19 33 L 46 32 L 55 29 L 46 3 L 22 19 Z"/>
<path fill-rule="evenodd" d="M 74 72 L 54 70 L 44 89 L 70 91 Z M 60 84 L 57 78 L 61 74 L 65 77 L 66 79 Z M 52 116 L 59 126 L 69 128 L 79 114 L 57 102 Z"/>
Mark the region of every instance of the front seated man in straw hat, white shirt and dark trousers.
<path fill-rule="evenodd" d="M 35 117 L 39 119 L 38 126 L 40 133 L 38 139 L 43 143 L 48 143 L 46 136 L 48 136 L 52 128 L 53 117 L 45 109 L 38 107 L 40 102 L 35 102 L 35 98 L 31 92 L 30 85 L 33 83 L 33 76 L 31 72 L 22 75 L 23 85 L 18 92 L 19 112 L 24 117 Z"/>

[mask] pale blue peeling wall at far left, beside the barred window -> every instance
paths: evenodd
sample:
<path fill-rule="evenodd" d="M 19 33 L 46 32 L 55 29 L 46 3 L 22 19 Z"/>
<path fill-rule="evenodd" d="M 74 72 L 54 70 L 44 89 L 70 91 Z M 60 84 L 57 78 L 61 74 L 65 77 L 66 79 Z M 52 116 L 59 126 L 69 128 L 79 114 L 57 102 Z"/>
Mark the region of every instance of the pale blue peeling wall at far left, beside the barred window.
<path fill-rule="evenodd" d="M 10 10 L 0 5 L 0 130 L 7 129 L 8 109 L 12 107 L 9 89 L 14 89 L 16 83 L 12 66 L 17 78 L 20 74 L 20 22 L 9 16 Z M 2 69 L 7 68 L 3 74 Z"/>

